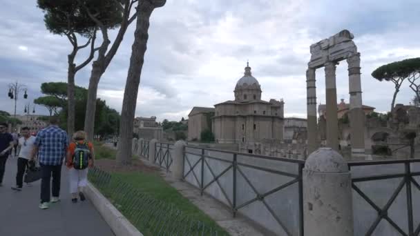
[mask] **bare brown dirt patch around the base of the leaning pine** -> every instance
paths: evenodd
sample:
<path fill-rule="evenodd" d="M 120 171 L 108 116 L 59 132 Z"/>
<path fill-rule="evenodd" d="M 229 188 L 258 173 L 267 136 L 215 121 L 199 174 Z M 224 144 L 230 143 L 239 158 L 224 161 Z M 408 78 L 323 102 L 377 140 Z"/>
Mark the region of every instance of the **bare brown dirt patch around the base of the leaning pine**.
<path fill-rule="evenodd" d="M 141 160 L 132 160 L 130 166 L 119 166 L 112 159 L 98 159 L 95 166 L 107 172 L 144 172 L 159 173 L 160 168 L 154 166 L 146 166 Z"/>

